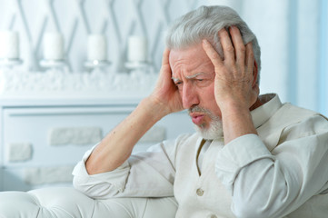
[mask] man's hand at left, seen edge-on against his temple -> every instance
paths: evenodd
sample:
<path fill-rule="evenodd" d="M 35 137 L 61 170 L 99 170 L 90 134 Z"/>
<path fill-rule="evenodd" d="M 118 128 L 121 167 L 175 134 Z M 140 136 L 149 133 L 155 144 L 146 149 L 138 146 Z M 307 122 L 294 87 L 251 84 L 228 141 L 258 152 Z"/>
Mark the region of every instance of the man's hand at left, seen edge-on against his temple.
<path fill-rule="evenodd" d="M 184 109 L 182 99 L 177 87 L 172 81 L 172 72 L 169 63 L 170 50 L 165 49 L 162 59 L 162 67 L 154 92 L 149 99 L 154 104 L 161 105 L 163 115 L 182 111 Z"/>

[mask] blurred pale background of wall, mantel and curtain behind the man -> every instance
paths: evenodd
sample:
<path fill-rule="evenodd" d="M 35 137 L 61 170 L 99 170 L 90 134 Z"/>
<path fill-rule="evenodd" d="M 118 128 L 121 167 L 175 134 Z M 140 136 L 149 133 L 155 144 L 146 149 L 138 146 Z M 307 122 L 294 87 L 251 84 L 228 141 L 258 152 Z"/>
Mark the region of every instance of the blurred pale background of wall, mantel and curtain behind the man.
<path fill-rule="evenodd" d="M 69 183 L 86 148 L 152 90 L 167 26 L 200 5 L 233 7 L 257 35 L 262 94 L 328 115 L 326 0 L 0 0 L 0 190 Z M 192 131 L 174 121 L 189 122 L 178 114 L 144 142 Z"/>

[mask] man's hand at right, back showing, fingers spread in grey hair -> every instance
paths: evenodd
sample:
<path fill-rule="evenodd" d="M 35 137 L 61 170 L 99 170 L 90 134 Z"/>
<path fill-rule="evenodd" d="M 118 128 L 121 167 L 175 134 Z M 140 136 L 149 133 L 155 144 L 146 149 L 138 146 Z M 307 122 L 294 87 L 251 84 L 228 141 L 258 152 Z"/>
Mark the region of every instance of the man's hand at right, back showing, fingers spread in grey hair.
<path fill-rule="evenodd" d="M 242 35 L 235 26 L 231 26 L 229 32 L 231 37 L 224 28 L 218 33 L 224 60 L 207 40 L 203 41 L 204 51 L 215 68 L 215 100 L 220 108 L 226 103 L 250 108 L 259 94 L 252 43 L 244 45 Z"/>

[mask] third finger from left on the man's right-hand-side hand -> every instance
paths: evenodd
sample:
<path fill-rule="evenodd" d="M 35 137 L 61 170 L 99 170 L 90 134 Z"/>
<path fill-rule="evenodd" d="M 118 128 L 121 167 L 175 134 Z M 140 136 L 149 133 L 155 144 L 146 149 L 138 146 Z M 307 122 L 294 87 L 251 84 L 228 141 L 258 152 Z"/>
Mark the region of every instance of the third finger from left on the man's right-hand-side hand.
<path fill-rule="evenodd" d="M 245 64 L 244 58 L 245 58 L 245 50 L 246 50 L 244 46 L 243 37 L 237 27 L 230 26 L 229 30 L 234 44 L 235 60 L 238 64 L 240 64 L 240 66 L 242 66 L 242 64 Z"/>

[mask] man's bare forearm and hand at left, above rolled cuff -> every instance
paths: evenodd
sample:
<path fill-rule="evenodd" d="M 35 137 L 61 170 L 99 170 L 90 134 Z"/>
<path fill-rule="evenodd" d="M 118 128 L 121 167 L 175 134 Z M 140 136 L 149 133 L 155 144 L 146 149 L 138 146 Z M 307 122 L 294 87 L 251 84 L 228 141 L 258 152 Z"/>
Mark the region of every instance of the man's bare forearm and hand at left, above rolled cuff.
<path fill-rule="evenodd" d="M 87 173 L 113 171 L 131 155 L 134 144 L 166 114 L 182 110 L 180 96 L 171 80 L 169 50 L 164 51 L 161 73 L 153 94 L 107 134 L 85 163 Z"/>

